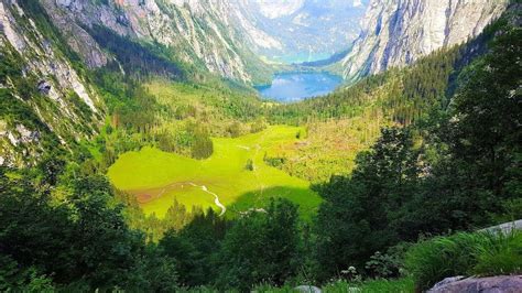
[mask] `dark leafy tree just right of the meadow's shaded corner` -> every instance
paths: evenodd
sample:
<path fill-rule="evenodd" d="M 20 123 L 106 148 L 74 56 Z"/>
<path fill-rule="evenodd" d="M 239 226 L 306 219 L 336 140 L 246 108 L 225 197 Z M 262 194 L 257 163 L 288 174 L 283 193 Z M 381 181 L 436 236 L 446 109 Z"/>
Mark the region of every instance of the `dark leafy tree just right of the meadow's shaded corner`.
<path fill-rule="evenodd" d="M 362 269 L 376 251 L 398 242 L 402 203 L 415 192 L 416 155 L 407 129 L 384 129 L 359 156 L 351 178 L 333 177 L 317 187 L 325 199 L 316 223 L 322 278 L 350 265 Z"/>

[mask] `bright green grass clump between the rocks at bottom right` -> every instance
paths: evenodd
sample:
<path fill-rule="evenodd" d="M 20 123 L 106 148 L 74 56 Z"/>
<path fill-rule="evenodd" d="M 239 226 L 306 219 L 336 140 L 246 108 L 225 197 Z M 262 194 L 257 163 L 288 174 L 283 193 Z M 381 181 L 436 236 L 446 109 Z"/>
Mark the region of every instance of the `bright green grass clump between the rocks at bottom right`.
<path fill-rule="evenodd" d="M 522 232 L 511 235 L 460 232 L 413 246 L 405 268 L 417 290 L 426 290 L 447 276 L 519 273 L 522 268 Z"/>

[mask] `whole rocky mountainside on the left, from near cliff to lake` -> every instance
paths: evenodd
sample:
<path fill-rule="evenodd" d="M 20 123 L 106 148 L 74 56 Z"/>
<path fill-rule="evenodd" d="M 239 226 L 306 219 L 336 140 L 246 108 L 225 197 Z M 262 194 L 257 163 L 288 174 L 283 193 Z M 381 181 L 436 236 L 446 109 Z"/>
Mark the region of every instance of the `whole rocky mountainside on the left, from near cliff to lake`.
<path fill-rule="evenodd" d="M 48 150 L 97 135 L 107 113 L 121 118 L 115 107 L 138 107 L 129 89 L 149 77 L 244 84 L 270 77 L 271 68 L 243 41 L 228 1 L 0 4 L 0 165 L 31 165 Z M 154 107 L 150 100 L 144 106 Z"/>

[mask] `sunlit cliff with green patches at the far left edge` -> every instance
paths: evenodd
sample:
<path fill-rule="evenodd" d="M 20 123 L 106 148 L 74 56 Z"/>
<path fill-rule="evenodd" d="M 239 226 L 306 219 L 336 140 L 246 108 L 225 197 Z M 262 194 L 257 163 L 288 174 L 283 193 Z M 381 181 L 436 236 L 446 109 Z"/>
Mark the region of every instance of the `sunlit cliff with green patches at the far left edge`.
<path fill-rule="evenodd" d="M 67 148 L 104 119 L 95 90 L 24 6 L 0 1 L 0 165 L 32 164 L 44 145 Z"/>

